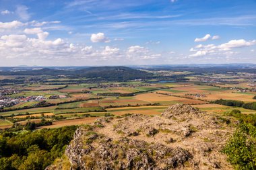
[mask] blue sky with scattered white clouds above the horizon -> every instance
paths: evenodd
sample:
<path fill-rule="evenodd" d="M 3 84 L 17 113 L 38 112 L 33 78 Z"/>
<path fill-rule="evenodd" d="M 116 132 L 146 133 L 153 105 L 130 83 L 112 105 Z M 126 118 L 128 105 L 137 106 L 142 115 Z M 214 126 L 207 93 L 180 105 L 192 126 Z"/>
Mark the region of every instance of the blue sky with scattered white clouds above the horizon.
<path fill-rule="evenodd" d="M 256 63 L 256 0 L 0 0 L 0 67 Z"/>

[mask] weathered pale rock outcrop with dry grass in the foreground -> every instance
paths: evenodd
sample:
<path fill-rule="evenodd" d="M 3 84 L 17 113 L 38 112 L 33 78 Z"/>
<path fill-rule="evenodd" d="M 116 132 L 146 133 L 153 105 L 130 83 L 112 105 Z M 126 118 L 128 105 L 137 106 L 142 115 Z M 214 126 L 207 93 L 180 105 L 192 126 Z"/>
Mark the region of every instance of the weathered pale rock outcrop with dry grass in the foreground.
<path fill-rule="evenodd" d="M 216 116 L 178 104 L 162 116 L 134 114 L 82 126 L 65 155 L 70 169 L 232 169 L 220 152 L 231 134 Z"/>

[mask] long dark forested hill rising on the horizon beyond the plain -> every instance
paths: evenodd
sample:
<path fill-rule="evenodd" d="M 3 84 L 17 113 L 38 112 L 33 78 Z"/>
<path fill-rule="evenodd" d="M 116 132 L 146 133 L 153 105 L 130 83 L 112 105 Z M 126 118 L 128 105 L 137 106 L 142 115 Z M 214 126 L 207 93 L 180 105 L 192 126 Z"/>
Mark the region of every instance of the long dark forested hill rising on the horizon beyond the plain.
<path fill-rule="evenodd" d="M 0 72 L 0 75 L 66 75 L 72 77 L 88 77 L 114 80 L 146 79 L 153 76 L 152 73 L 131 69 L 129 67 L 89 67 L 75 71 L 40 69 L 33 71 Z"/>

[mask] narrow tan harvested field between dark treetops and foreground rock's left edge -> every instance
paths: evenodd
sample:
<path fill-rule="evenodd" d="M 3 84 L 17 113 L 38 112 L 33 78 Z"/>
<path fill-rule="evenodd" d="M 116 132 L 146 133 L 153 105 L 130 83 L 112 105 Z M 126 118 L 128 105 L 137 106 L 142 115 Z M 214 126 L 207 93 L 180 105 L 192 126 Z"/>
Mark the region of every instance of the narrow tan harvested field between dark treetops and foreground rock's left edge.
<path fill-rule="evenodd" d="M 96 117 L 92 118 L 82 118 L 82 119 L 73 119 L 73 120 L 61 120 L 53 122 L 53 125 L 50 126 L 41 126 L 39 128 L 59 128 L 63 126 L 71 126 L 71 125 L 82 125 L 92 123 L 96 120 Z"/>

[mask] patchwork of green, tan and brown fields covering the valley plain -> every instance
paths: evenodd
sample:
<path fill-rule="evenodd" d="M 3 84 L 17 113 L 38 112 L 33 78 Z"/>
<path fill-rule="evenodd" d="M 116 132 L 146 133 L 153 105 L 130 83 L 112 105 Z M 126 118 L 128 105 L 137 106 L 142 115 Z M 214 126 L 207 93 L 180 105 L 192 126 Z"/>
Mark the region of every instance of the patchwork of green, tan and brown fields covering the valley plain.
<path fill-rule="evenodd" d="M 40 122 L 41 118 L 46 117 L 47 120 L 53 121 L 53 124 L 40 128 L 56 128 L 93 122 L 96 118 L 104 116 L 161 114 L 169 105 L 175 103 L 190 104 L 195 108 L 213 114 L 230 112 L 233 109 L 241 110 L 243 114 L 255 113 L 253 110 L 210 103 L 216 99 L 239 99 L 251 102 L 255 101 L 253 99 L 255 93 L 241 93 L 231 89 L 196 85 L 194 83 L 152 83 L 151 85 L 143 85 L 143 83 L 137 81 L 125 83 L 127 85 L 125 87 L 113 87 L 119 85 L 119 82 L 106 82 L 104 83 L 106 87 L 97 87 L 98 84 L 96 83 L 28 85 L 20 88 L 21 90 L 26 89 L 25 91 L 13 94 L 11 97 L 43 95 L 46 98 L 46 103 L 53 105 L 40 108 L 24 108 L 32 107 L 39 101 L 21 102 L 11 107 L 19 110 L 1 112 L 0 116 L 6 117 L 6 119 L 16 119 L 20 124 L 26 124 L 28 121 Z M 108 85 L 112 86 L 108 87 Z M 122 94 L 125 94 L 125 96 Z M 65 97 L 49 99 L 52 95 L 63 95 Z M 38 119 L 24 120 L 28 118 L 27 116 Z M 53 116 L 57 116 L 58 119 Z M 2 128 L 12 125 L 11 122 L 7 122 L 5 119 L 0 121 L 0 127 Z"/>

